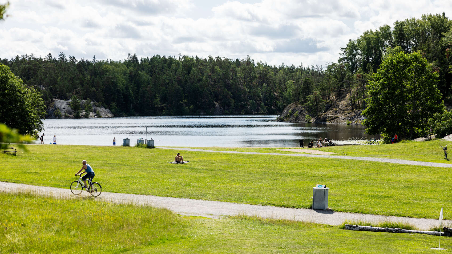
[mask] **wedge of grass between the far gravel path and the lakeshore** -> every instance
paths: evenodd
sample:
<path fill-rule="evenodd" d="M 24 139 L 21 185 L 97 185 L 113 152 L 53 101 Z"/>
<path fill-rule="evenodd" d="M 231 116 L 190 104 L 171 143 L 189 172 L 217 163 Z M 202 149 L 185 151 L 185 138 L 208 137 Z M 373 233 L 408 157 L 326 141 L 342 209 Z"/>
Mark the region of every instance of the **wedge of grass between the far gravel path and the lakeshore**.
<path fill-rule="evenodd" d="M 452 163 L 452 155 L 450 160 L 444 160 L 443 149 L 439 146 L 449 146 L 452 151 L 452 142 L 443 139 L 435 139 L 425 142 L 400 142 L 396 144 L 386 144 L 379 146 L 328 146 L 322 148 L 309 148 L 312 150 L 320 150 L 327 152 L 339 153 L 338 155 L 348 156 L 364 156 L 403 160 L 417 160 L 439 163 Z M 250 148 L 250 147 L 188 147 L 216 151 L 242 151 L 242 152 L 261 152 L 261 153 L 294 153 L 289 151 L 281 151 L 280 147 L 266 147 L 266 148 Z M 290 147 L 290 149 L 308 149 Z M 449 150 L 448 150 L 449 151 Z"/>

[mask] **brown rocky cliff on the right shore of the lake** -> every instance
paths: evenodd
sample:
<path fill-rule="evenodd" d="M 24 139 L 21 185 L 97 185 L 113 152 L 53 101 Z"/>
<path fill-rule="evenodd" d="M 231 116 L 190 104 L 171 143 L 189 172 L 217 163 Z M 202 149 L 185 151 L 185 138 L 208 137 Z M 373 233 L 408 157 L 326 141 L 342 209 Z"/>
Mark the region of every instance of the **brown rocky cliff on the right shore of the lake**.
<path fill-rule="evenodd" d="M 365 117 L 361 114 L 362 110 L 352 110 L 350 95 L 344 95 L 342 98 L 335 98 L 333 102 L 326 104 L 325 110 L 319 113 L 316 118 L 311 116 L 311 122 L 318 123 L 338 123 L 338 124 L 361 124 Z M 295 102 L 288 105 L 277 118 L 279 122 L 306 122 L 306 108 L 300 103 Z"/>

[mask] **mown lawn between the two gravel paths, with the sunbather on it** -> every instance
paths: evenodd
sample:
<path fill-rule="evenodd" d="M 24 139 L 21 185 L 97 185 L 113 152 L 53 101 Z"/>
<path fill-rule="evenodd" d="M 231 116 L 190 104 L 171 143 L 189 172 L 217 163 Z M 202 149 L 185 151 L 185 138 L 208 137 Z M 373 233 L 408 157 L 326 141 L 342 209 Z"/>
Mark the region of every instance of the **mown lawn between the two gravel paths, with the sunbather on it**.
<path fill-rule="evenodd" d="M 178 151 L 137 147 L 32 145 L 1 155 L 0 181 L 69 188 L 81 160 L 103 191 L 311 207 L 312 187 L 330 187 L 334 211 L 450 218 L 447 168 L 370 161 L 181 151 L 185 165 L 167 164 Z"/>

